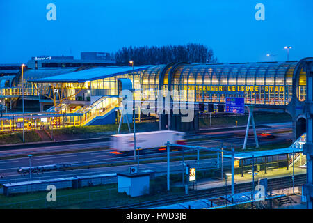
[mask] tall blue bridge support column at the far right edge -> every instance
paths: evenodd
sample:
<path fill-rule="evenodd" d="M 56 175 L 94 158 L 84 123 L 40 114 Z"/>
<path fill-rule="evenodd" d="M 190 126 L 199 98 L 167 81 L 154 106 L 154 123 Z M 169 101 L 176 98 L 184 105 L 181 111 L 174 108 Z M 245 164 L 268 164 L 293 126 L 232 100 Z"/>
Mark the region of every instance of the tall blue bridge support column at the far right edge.
<path fill-rule="evenodd" d="M 313 209 L 313 62 L 306 64 L 307 98 L 305 101 L 305 115 L 307 117 L 307 142 L 303 144 L 303 154 L 307 155 L 307 184 L 303 195 L 307 199 L 307 208 Z"/>

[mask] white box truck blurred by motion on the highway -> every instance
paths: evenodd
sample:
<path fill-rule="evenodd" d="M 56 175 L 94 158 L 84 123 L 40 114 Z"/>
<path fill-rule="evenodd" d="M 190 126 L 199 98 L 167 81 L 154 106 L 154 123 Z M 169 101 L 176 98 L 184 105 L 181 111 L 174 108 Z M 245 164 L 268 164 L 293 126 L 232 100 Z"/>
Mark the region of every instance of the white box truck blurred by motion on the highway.
<path fill-rule="evenodd" d="M 166 142 L 170 144 L 186 144 L 184 132 L 177 131 L 153 131 L 136 133 L 136 149 L 166 148 Z M 134 133 L 113 134 L 111 136 L 110 148 L 125 153 L 134 151 Z"/>

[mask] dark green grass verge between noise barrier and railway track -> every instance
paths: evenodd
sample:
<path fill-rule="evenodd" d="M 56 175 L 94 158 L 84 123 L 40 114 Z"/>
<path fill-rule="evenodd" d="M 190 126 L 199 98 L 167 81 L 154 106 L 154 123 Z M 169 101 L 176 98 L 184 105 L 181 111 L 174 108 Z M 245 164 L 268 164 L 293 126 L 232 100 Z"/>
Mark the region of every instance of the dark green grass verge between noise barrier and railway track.
<path fill-rule="evenodd" d="M 213 176 L 212 171 L 197 171 L 197 178 Z M 170 185 L 180 182 L 182 174 L 171 174 Z M 153 201 L 184 194 L 181 187 L 172 187 L 170 194 L 166 192 L 166 176 L 157 176 L 150 180 L 150 194 L 141 197 L 129 197 L 118 193 L 117 183 L 83 187 L 79 189 L 62 189 L 56 192 L 56 202 L 47 202 L 47 192 L 16 194 L 6 197 L 0 194 L 0 208 L 109 208 L 142 201 Z"/>

